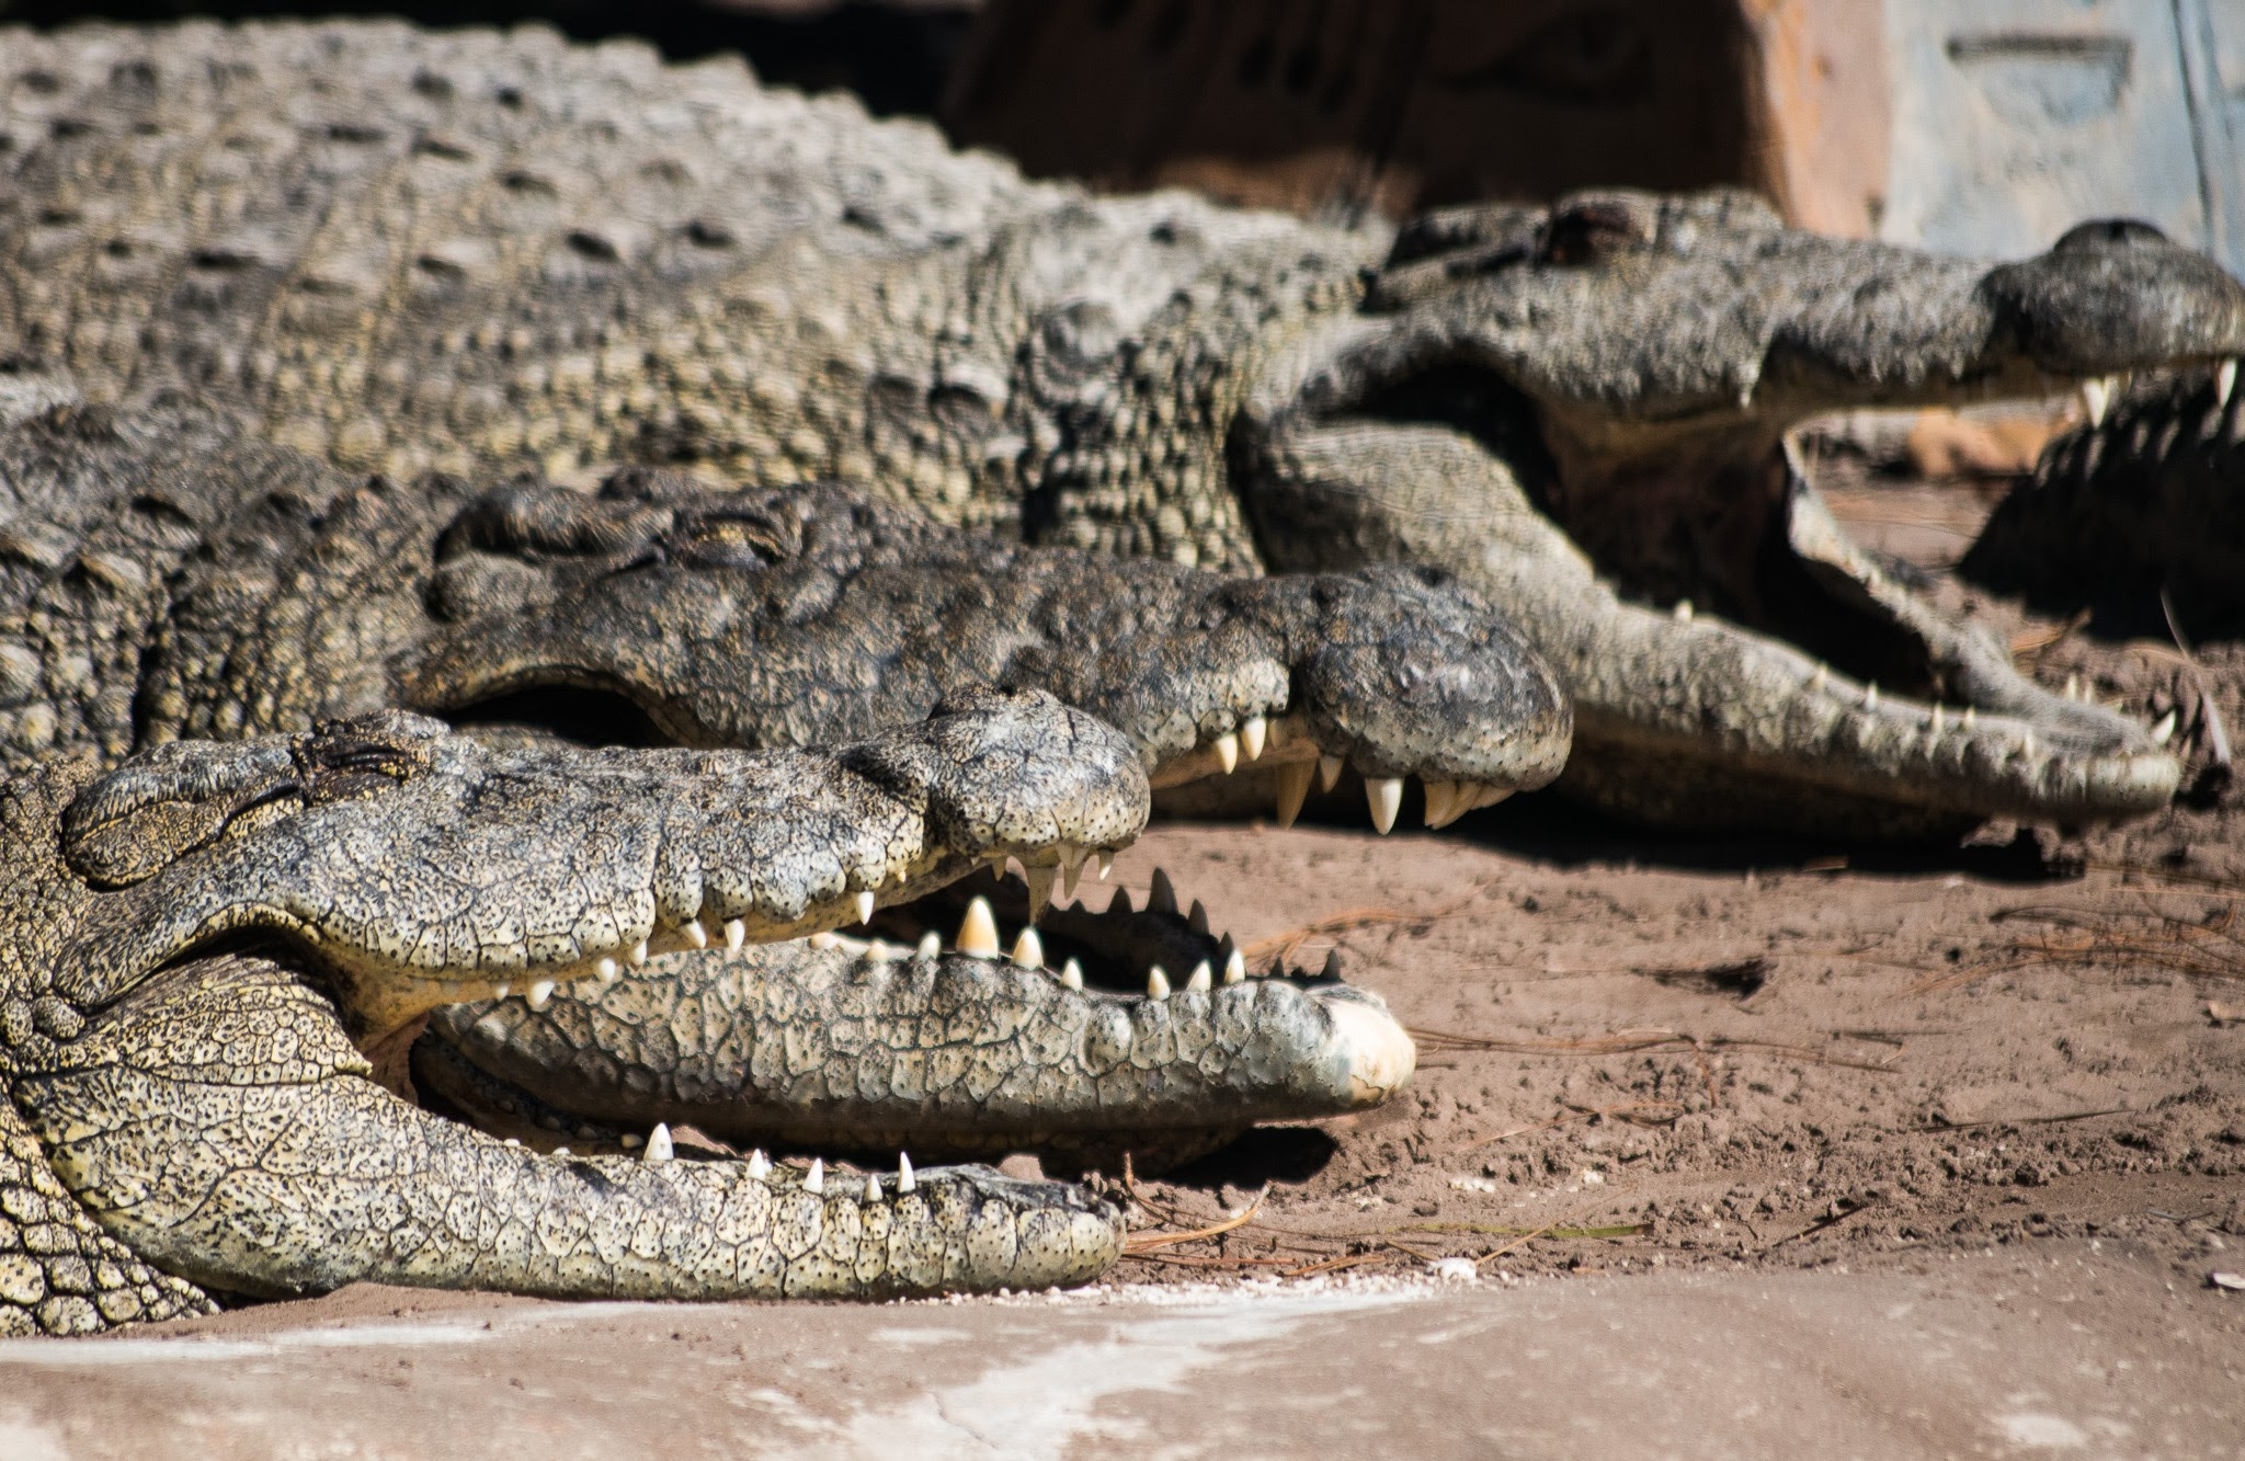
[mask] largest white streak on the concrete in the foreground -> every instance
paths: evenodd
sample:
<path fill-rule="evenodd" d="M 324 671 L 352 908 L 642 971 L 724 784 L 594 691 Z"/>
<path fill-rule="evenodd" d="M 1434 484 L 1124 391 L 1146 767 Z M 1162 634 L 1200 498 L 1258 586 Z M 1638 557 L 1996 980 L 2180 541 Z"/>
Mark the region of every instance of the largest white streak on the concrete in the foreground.
<path fill-rule="evenodd" d="M 1307 1320 L 1408 1304 L 1396 1293 L 1233 1293 L 1190 1308 L 1118 1313 L 1114 1329 L 1008 1358 L 963 1385 L 853 1414 L 833 1441 L 849 1457 L 1057 1457 L 1073 1441 L 1131 1441 L 1136 1423 L 1096 1416 L 1100 1400 L 1131 1391 L 1179 1391 L 1192 1376 L 1239 1382 L 1228 1351 L 1277 1340 Z M 1033 1340 L 1030 1340 L 1033 1342 Z"/>

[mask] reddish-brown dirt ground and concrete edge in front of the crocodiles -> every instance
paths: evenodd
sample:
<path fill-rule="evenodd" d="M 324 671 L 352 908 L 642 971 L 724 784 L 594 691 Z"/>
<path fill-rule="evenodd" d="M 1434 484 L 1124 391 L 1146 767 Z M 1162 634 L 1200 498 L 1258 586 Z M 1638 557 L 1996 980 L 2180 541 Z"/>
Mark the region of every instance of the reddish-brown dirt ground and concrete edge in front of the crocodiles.
<path fill-rule="evenodd" d="M 1985 491 L 1836 507 L 2047 682 L 2175 707 L 2198 765 L 2207 693 L 2245 732 L 2241 646 L 2200 673 L 1940 577 Z M 0 1344 L 0 1454 L 2238 1454 L 2245 824 L 2200 801 L 1931 855 L 1533 797 L 1163 826 L 1116 886 L 1165 866 L 1244 943 L 1334 920 L 1298 961 L 1338 945 L 1426 1032 L 1392 1106 L 1136 1187 L 1149 1232 L 1268 1187 L 1253 1221 L 1064 1302 L 355 1290 Z"/>

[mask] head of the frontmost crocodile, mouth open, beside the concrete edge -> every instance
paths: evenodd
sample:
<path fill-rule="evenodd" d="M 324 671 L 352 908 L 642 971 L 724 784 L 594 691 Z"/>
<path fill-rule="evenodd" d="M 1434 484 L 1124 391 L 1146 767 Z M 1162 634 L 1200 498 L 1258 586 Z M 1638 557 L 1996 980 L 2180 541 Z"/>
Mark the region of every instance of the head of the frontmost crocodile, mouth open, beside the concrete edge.
<path fill-rule="evenodd" d="M 0 792 L 9 1124 L 76 1216 L 229 1293 L 1082 1281 L 1120 1214 L 1073 1187 L 541 1154 L 400 1100 L 368 1053 L 442 1001 L 543 1003 L 665 949 L 858 922 L 990 860 L 1105 853 L 1145 810 L 1136 747 L 1033 691 L 831 754 L 494 750 L 386 711 L 101 777 L 38 768 Z M 85 1306 L 49 1322 L 11 1275 L 18 1326 L 94 1326 L 146 1286 L 114 1261 L 47 1268 L 29 1277 Z"/>

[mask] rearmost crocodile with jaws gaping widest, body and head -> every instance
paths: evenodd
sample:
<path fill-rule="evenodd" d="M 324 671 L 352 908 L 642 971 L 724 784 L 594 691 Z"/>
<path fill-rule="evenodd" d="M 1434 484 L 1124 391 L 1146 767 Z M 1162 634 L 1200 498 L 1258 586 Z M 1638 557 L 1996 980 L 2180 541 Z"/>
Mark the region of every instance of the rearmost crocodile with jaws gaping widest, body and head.
<path fill-rule="evenodd" d="M 2142 227 L 2000 265 L 1733 193 L 1340 229 L 541 29 L 0 43 L 0 352 L 101 399 L 186 382 L 395 478 L 842 478 L 1024 543 L 1441 566 L 1574 691 L 1560 790 L 1652 821 L 2092 824 L 2180 777 L 1850 545 L 1789 447 L 2234 359 L 2245 290 Z"/>

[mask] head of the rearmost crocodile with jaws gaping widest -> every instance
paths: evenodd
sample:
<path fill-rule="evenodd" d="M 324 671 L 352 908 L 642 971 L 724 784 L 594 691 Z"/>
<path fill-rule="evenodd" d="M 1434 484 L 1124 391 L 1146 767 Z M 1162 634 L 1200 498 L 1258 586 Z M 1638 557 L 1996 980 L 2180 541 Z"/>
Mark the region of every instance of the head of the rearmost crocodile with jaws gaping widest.
<path fill-rule="evenodd" d="M 2241 352 L 2245 290 L 2144 224 L 1985 265 L 1589 193 L 1403 229 L 1233 460 L 1271 566 L 1437 563 L 1515 615 L 1576 693 L 1563 788 L 1697 826 L 2097 821 L 2175 759 L 1854 550 L 1789 431 Z"/>

